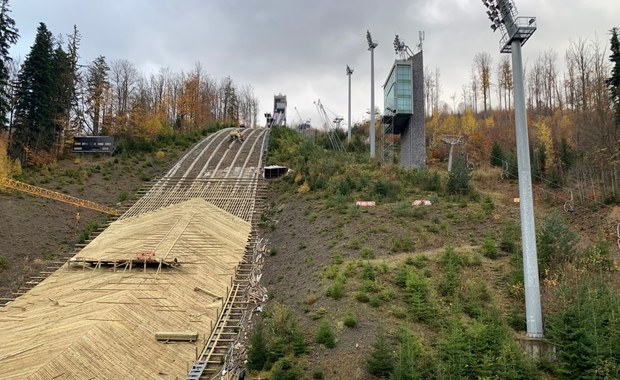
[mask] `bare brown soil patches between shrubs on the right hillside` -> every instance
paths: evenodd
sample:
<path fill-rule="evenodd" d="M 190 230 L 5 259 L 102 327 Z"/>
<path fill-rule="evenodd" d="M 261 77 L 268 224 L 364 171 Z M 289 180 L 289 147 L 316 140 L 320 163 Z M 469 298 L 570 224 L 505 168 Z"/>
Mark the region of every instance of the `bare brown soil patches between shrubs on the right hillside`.
<path fill-rule="evenodd" d="M 440 200 L 442 203 L 420 209 L 416 220 L 395 218 L 395 204 L 360 208 L 357 213 L 351 212 L 352 205 L 343 205 L 340 210 L 330 209 L 326 199 L 311 193 L 282 193 L 278 190 L 280 186 L 272 183 L 261 235 L 268 239 L 274 253 L 263 268 L 262 283 L 268 289 L 269 302 L 286 305 L 296 316 L 310 343 L 304 378 L 311 378 L 314 371 L 321 370 L 326 379 L 373 379 L 366 372 L 365 363 L 378 329 L 395 333 L 397 326 L 403 323 L 392 302 L 373 307 L 356 301 L 353 294 L 360 285 L 356 276 L 347 277 L 343 298 L 335 300 L 326 295 L 332 280 L 326 278 L 325 271 L 334 263 L 336 255 L 340 254 L 344 259 L 341 268 L 349 263 L 361 268 L 368 262 L 392 268 L 408 257 L 424 254 L 430 258 L 429 269 L 433 273 L 430 281 L 436 281 L 436 277 L 441 276 L 437 255 L 446 246 L 453 246 L 461 253 L 479 254 L 486 236 L 490 233 L 495 237 L 499 235 L 502 221 L 512 220 L 518 226 L 519 204 L 514 199 L 518 197 L 518 185 L 500 181 L 499 174 L 494 169 L 486 169 L 474 177 L 474 187 L 481 197 L 493 199 L 494 210 L 490 216 L 480 216 L 481 202 L 454 204 Z M 561 191 L 551 192 L 542 187 L 534 190 L 536 212 L 540 213 L 537 223 L 551 208 L 562 210 L 565 199 Z M 420 197 L 424 198 L 424 194 Z M 584 238 L 604 237 L 615 249 L 613 234 L 617 218 L 608 217 L 613 213 L 620 215 L 614 210 L 603 207 L 592 213 L 581 206 L 564 215 Z M 410 236 L 415 244 L 414 250 L 393 253 L 391 241 L 397 236 Z M 588 244 L 591 242 L 589 240 Z M 364 247 L 374 252 L 374 259 L 361 258 L 360 250 Z M 520 306 L 515 305 L 510 295 L 511 271 L 508 255 L 496 260 L 482 257 L 482 265 L 462 272 L 461 283 L 484 279 L 492 303 L 505 313 L 514 312 Z M 389 281 L 386 276 L 380 278 L 379 282 Z M 344 327 L 343 321 L 349 312 L 357 317 L 355 328 Z M 333 349 L 315 343 L 321 321 L 317 314 L 323 315 L 336 332 L 337 343 Z M 413 329 L 427 344 L 434 343 L 436 333 L 432 329 L 421 324 L 413 325 Z"/>

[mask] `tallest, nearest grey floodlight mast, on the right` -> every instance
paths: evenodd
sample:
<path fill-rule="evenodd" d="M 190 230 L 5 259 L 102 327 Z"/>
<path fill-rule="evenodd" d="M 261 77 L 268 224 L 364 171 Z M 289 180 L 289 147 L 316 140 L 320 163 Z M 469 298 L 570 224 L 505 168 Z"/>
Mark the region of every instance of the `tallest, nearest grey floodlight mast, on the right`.
<path fill-rule="evenodd" d="M 521 46 L 536 31 L 536 18 L 517 17 L 517 8 L 512 0 L 482 0 L 482 3 L 488 8 L 487 15 L 492 22 L 491 29 L 502 31 L 500 52 L 512 53 L 527 336 L 542 338 L 543 325 L 534 224 L 534 198 L 532 195 L 530 148 L 525 109 L 523 59 L 521 57 Z"/>

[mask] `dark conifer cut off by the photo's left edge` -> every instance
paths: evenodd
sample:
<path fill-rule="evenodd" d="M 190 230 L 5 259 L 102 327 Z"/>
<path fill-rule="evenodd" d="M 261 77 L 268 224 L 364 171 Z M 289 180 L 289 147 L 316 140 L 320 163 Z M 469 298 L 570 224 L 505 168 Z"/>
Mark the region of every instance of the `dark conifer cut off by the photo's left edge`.
<path fill-rule="evenodd" d="M 2 0 L 0 8 L 0 130 L 6 128 L 6 114 L 10 109 L 9 92 L 9 48 L 17 42 L 19 34 L 9 13 L 9 0 Z"/>

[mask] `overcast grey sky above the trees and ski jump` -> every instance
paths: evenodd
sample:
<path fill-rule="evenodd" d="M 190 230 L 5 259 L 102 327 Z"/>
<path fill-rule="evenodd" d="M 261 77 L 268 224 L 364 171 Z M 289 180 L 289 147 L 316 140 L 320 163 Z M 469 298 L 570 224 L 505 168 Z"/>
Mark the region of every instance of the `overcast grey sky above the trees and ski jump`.
<path fill-rule="evenodd" d="M 619 0 L 515 0 L 520 16 L 535 16 L 538 30 L 523 48 L 525 64 L 543 51 L 563 57 L 571 40 L 596 38 L 608 46 L 608 31 L 620 27 Z M 442 100 L 462 99 L 473 57 L 488 52 L 500 59 L 499 33 L 493 34 L 480 0 L 10 0 L 20 40 L 11 50 L 23 58 L 39 22 L 54 34 L 82 34 L 81 63 L 98 55 L 108 62 L 126 59 L 145 74 L 169 67 L 190 71 L 200 62 L 215 79 L 226 76 L 250 84 L 260 114 L 271 112 L 273 96 L 287 95 L 289 124 L 320 123 L 314 101 L 334 114 L 347 114 L 346 65 L 352 75 L 352 119 L 370 107 L 370 52 L 375 50 L 375 104 L 383 107 L 383 85 L 398 34 L 415 50 L 425 31 L 424 64 L 441 75 Z M 607 53 L 606 56 L 609 54 Z M 332 114 L 333 112 L 333 114 Z M 345 121 L 346 125 L 346 121 Z"/>

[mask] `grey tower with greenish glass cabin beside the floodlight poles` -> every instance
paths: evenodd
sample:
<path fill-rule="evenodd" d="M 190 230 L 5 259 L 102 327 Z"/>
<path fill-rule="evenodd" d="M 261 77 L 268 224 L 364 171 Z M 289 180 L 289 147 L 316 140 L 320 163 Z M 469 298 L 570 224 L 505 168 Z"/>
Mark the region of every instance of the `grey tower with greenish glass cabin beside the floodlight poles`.
<path fill-rule="evenodd" d="M 405 169 L 426 166 L 423 39 L 420 32 L 419 51 L 413 54 L 396 35 L 394 48 L 400 59 L 394 61 L 383 85 L 384 157 L 390 156 L 390 135 L 399 134 L 400 164 Z"/>

